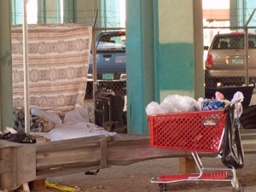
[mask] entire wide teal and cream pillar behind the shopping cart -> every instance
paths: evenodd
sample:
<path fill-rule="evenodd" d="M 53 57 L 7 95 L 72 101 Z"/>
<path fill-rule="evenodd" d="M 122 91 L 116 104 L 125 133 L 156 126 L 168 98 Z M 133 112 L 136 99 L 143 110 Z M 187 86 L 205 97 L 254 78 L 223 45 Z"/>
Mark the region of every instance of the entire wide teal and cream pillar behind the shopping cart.
<path fill-rule="evenodd" d="M 126 0 L 128 132 L 147 134 L 145 108 L 204 96 L 201 1 Z"/>

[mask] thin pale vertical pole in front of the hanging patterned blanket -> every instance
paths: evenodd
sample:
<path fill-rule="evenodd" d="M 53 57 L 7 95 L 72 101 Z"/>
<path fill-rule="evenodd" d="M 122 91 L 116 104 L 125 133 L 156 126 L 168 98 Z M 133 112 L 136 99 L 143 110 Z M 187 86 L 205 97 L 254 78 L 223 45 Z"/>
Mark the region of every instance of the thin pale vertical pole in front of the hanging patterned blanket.
<path fill-rule="evenodd" d="M 29 89 L 28 89 L 28 46 L 27 46 L 27 20 L 26 20 L 26 3 L 23 0 L 23 73 L 24 73 L 24 113 L 25 113 L 25 132 L 30 131 L 30 110 L 29 110 Z"/>

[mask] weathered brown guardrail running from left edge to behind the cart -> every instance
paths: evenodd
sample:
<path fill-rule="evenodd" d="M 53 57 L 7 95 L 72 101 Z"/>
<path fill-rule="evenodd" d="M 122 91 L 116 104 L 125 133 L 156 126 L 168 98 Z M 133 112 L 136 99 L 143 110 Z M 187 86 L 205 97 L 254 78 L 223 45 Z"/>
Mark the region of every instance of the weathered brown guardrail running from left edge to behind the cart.
<path fill-rule="evenodd" d="M 141 135 L 104 135 L 49 143 L 9 144 L 5 143 L 5 148 L 13 148 L 10 154 L 15 159 L 12 163 L 14 172 L 0 175 L 0 187 L 9 184 L 9 189 L 22 182 L 74 172 L 95 171 L 112 165 L 126 166 L 143 160 L 191 156 L 185 151 L 153 148 L 150 146 L 149 137 Z M 3 149 L 0 148 L 0 155 L 3 155 Z M 3 158 L 0 160 L 3 164 Z"/>

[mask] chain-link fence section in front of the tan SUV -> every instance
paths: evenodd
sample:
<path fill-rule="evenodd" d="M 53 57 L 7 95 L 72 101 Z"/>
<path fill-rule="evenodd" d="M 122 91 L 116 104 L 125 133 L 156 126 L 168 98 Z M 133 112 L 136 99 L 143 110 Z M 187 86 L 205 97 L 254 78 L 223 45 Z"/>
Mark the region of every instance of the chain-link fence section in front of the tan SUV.
<path fill-rule="evenodd" d="M 205 46 L 204 69 L 207 88 L 253 86 L 256 81 L 256 26 L 204 28 L 210 37 Z M 255 90 L 253 91 L 255 92 Z M 251 104 L 256 103 L 253 94 Z"/>

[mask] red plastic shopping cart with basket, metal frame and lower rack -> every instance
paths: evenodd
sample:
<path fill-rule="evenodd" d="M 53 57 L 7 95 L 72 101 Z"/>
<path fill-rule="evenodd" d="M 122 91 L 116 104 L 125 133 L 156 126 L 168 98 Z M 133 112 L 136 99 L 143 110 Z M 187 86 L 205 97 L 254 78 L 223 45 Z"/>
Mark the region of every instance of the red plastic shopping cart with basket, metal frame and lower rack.
<path fill-rule="evenodd" d="M 197 153 L 218 154 L 224 137 L 226 116 L 224 110 L 148 116 L 150 145 L 191 152 L 199 170 L 198 173 L 153 177 L 151 183 L 159 183 L 160 192 L 166 190 L 167 183 L 195 181 L 228 181 L 232 184 L 233 192 L 243 192 L 235 168 L 206 168 Z"/>

